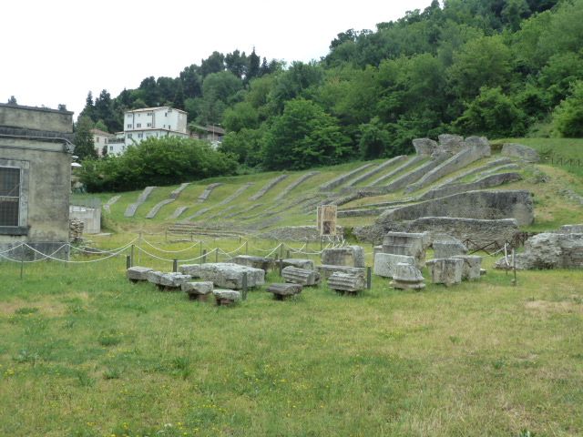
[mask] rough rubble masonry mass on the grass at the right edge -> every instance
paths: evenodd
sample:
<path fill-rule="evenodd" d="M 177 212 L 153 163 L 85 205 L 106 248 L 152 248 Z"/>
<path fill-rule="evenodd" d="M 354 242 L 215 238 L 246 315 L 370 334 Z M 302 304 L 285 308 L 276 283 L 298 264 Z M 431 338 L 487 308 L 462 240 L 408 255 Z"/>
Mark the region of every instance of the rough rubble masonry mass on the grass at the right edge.
<path fill-rule="evenodd" d="M 513 261 L 508 256 L 509 268 Z M 517 269 L 583 269 L 583 233 L 546 232 L 527 239 L 516 255 Z M 496 261 L 496 269 L 507 269 L 506 259 Z"/>

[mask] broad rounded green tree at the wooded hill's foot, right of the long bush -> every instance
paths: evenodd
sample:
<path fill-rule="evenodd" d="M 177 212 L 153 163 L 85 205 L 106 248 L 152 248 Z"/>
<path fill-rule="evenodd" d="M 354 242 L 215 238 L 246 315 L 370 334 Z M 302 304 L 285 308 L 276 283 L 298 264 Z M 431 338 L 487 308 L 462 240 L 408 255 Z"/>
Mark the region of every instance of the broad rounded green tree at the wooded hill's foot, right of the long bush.
<path fill-rule="evenodd" d="M 349 138 L 334 117 L 309 100 L 286 103 L 264 137 L 265 168 L 303 169 L 341 162 L 350 153 Z"/>

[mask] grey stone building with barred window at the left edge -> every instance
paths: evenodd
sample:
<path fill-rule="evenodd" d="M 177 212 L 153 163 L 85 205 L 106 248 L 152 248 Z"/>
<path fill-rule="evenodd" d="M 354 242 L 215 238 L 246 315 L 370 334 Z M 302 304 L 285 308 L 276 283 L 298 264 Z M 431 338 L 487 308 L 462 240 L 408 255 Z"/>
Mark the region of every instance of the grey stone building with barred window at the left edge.
<path fill-rule="evenodd" d="M 72 112 L 0 104 L 0 250 L 26 242 L 53 253 L 68 242 L 72 138 Z"/>

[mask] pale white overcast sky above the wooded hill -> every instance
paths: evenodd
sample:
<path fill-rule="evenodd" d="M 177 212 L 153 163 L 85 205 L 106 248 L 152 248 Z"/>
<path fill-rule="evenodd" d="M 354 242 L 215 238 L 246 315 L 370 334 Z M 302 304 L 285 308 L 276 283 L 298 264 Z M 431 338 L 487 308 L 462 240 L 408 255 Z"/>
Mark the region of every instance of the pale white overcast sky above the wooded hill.
<path fill-rule="evenodd" d="M 347 29 L 424 9 L 431 0 L 9 0 L 2 2 L 0 102 L 65 104 L 117 97 L 145 77 L 177 77 L 213 51 L 308 62 Z"/>

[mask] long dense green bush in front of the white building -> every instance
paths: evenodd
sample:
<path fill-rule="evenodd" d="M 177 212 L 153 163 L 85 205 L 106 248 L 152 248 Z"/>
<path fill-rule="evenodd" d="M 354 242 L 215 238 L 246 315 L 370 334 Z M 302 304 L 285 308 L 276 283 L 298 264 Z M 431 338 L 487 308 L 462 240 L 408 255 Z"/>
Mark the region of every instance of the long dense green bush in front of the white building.
<path fill-rule="evenodd" d="M 87 191 L 128 191 L 232 175 L 237 163 L 208 143 L 190 138 L 148 138 L 120 157 L 86 159 L 79 176 Z"/>

